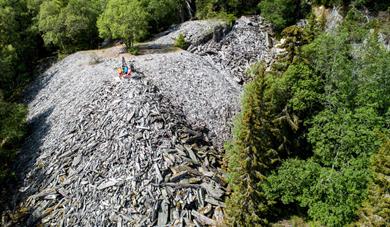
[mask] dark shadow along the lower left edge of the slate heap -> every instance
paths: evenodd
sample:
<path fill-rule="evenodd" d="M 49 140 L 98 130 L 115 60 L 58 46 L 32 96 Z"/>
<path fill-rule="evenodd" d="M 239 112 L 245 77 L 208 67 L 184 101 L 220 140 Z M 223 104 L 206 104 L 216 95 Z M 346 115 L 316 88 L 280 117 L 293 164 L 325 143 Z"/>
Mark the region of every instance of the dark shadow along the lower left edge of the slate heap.
<path fill-rule="evenodd" d="M 22 202 L 39 190 L 39 185 L 47 176 L 43 169 L 36 168 L 29 172 L 36 163 L 45 136 L 51 128 L 48 118 L 54 107 L 35 116 L 29 121 L 28 134 L 22 149 L 15 160 L 13 170 L 15 179 L 7 183 L 8 201 L 4 201 L 4 213 L 1 214 L 0 226 L 36 226 L 34 211 L 23 207 Z"/>

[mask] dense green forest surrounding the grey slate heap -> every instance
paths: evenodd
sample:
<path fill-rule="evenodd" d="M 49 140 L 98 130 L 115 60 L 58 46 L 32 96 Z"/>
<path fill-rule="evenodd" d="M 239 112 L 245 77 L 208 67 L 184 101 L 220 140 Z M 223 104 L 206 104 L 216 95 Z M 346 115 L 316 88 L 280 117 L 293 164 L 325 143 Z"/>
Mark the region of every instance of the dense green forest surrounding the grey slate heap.
<path fill-rule="evenodd" d="M 313 7 L 337 6 L 332 32 Z M 378 12 L 385 17 L 377 17 Z M 390 35 L 387 0 L 0 0 L 0 184 L 28 131 L 22 104 L 35 66 L 134 43 L 188 19 L 270 21 L 287 52 L 248 70 L 242 111 L 226 143 L 226 222 L 269 225 L 294 216 L 326 226 L 389 221 Z M 306 19 L 305 26 L 295 25 Z M 183 37 L 182 37 L 183 38 Z"/>

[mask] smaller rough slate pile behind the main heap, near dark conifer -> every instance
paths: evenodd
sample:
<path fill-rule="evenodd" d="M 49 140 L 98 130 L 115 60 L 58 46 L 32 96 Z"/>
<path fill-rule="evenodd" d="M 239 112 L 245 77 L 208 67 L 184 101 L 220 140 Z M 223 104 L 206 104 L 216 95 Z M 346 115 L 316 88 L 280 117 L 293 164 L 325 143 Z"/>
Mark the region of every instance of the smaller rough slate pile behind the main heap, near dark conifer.
<path fill-rule="evenodd" d="M 230 32 L 216 27 L 212 39 L 202 45 L 192 45 L 188 51 L 204 56 L 225 74 L 242 84 L 250 78 L 247 68 L 259 61 L 270 64 L 274 58 L 271 25 L 260 16 L 243 16 Z"/>

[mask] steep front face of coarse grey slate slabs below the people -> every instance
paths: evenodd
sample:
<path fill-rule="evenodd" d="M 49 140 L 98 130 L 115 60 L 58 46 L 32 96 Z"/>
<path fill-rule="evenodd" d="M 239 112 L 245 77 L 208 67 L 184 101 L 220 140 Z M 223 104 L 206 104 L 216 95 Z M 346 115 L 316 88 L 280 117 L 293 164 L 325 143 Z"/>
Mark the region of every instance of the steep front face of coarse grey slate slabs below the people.
<path fill-rule="evenodd" d="M 222 222 L 221 154 L 148 80 L 106 81 L 74 111 L 20 189 L 25 224 Z"/>

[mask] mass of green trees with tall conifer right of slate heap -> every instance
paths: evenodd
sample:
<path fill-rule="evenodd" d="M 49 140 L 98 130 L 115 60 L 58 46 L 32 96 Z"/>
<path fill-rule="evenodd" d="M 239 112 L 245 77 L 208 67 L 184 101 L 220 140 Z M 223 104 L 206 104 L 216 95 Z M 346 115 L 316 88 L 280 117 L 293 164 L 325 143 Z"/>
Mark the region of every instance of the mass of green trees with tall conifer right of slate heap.
<path fill-rule="evenodd" d="M 361 18 L 352 10 L 337 33 L 317 37 L 296 26 L 285 29 L 288 54 L 279 59 L 282 67 L 265 73 L 261 89 L 245 90 L 227 146 L 230 223 L 264 224 L 272 219 L 269 211 L 291 206 L 307 209 L 309 218 L 326 226 L 344 226 L 356 218 L 368 194 L 370 157 L 383 143 L 379 135 L 389 135 L 390 123 L 390 53 L 370 32 L 373 24 Z M 261 100 L 261 105 L 249 100 Z M 260 119 L 261 124 L 243 119 Z M 248 130 L 249 124 L 256 131 Z M 243 168 L 245 161 L 252 163 L 271 149 L 273 159 L 257 159 L 257 165 Z M 252 176 L 257 171 L 261 178 Z M 377 196 L 382 186 L 376 187 Z M 257 206 L 264 212 L 249 209 Z"/>

